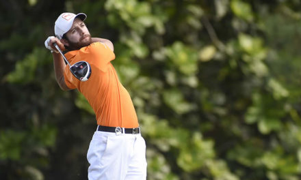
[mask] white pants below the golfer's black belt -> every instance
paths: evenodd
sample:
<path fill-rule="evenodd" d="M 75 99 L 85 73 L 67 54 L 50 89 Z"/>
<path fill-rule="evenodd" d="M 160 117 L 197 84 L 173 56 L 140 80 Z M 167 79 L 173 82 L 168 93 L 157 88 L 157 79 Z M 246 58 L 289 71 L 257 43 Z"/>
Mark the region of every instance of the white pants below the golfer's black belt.
<path fill-rule="evenodd" d="M 146 145 L 141 134 L 94 132 L 87 153 L 89 180 L 146 179 Z"/>

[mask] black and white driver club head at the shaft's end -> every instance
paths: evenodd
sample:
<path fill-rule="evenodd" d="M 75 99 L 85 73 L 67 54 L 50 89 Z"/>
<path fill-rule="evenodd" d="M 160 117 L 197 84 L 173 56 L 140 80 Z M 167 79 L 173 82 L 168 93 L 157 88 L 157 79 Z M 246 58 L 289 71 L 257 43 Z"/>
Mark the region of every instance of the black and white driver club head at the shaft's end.
<path fill-rule="evenodd" d="M 70 66 L 72 74 L 81 81 L 86 81 L 91 75 L 91 66 L 86 61 L 79 61 Z"/>

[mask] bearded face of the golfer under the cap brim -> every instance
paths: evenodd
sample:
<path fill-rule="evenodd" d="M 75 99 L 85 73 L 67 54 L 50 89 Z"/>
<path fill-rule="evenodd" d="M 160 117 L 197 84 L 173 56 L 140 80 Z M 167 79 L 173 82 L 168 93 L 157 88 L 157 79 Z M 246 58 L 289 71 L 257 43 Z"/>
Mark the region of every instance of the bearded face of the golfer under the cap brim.
<path fill-rule="evenodd" d="M 66 46 L 68 50 L 79 50 L 91 44 L 91 35 L 85 23 L 80 18 L 75 18 L 70 30 L 66 33 Z"/>

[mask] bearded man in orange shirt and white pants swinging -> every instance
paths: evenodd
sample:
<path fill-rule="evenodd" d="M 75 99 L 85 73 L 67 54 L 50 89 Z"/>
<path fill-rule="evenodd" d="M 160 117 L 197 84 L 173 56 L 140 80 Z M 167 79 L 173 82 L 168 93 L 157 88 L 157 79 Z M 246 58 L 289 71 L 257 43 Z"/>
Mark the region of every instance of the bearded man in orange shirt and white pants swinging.
<path fill-rule="evenodd" d="M 146 145 L 127 90 L 120 84 L 110 61 L 115 59 L 109 40 L 91 37 L 83 20 L 86 14 L 63 13 L 55 21 L 56 37 L 48 37 L 55 78 L 61 89 L 78 89 L 92 106 L 97 121 L 87 159 L 88 179 L 146 179 Z M 87 61 L 91 75 L 87 81 L 75 78 L 53 46 L 56 43 L 71 65 Z"/>

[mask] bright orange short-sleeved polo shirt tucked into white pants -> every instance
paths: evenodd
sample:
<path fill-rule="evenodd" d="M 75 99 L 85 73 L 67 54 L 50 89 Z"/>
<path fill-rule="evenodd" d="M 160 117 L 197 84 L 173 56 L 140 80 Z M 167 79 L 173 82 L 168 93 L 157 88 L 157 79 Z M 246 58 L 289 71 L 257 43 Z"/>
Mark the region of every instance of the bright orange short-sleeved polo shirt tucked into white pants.
<path fill-rule="evenodd" d="M 78 89 L 92 106 L 98 125 L 111 127 L 138 127 L 138 118 L 128 91 L 118 79 L 111 61 L 114 52 L 101 42 L 94 42 L 80 50 L 66 53 L 71 65 L 78 61 L 87 61 L 91 66 L 91 75 L 87 81 L 80 81 L 66 65 L 64 78 L 70 89 Z"/>

